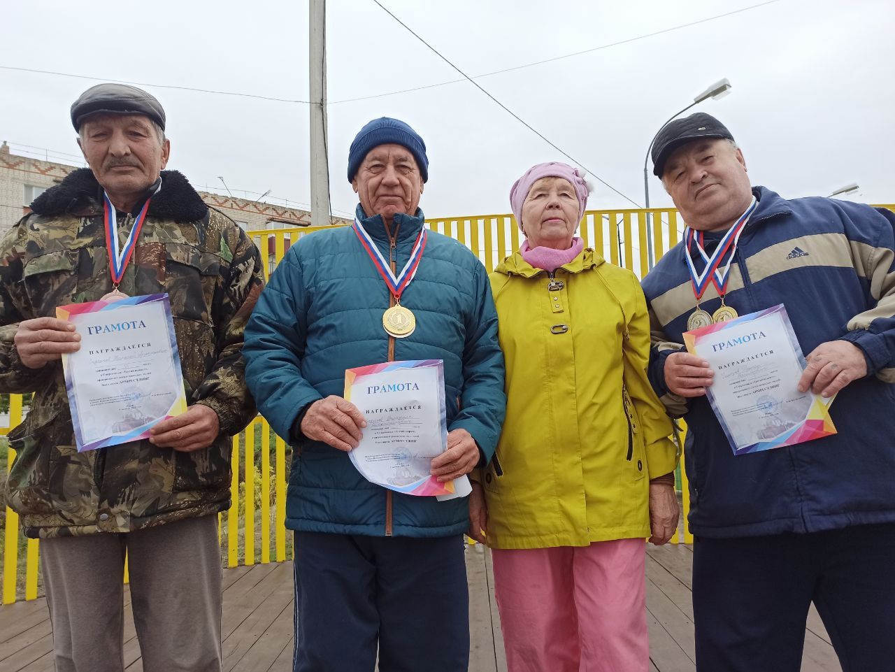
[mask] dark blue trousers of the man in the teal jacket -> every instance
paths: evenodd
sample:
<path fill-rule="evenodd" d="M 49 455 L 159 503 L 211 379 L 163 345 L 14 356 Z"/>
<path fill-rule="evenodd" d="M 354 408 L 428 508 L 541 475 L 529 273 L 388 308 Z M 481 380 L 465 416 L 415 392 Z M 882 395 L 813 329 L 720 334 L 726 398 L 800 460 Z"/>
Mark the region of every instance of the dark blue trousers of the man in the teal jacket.
<path fill-rule="evenodd" d="M 294 672 L 466 672 L 461 535 L 295 532 Z"/>

